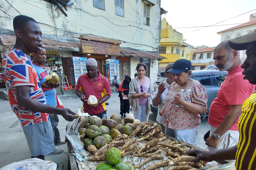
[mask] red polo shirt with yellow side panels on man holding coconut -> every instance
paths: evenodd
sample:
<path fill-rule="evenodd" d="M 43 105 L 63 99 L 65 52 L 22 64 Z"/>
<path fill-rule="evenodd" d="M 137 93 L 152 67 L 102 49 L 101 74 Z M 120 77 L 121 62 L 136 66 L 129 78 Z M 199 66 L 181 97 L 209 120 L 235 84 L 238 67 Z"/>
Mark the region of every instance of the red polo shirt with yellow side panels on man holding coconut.
<path fill-rule="evenodd" d="M 97 71 L 99 76 L 92 82 L 88 74 L 81 75 L 76 84 L 75 90 L 83 91 L 85 99 L 88 99 L 90 95 L 94 95 L 97 99 L 101 100 L 105 95 L 111 95 L 111 89 L 109 81 L 106 77 Z M 106 110 L 105 102 L 97 107 L 91 107 L 87 102 L 83 102 L 82 110 L 89 115 L 97 115 Z"/>

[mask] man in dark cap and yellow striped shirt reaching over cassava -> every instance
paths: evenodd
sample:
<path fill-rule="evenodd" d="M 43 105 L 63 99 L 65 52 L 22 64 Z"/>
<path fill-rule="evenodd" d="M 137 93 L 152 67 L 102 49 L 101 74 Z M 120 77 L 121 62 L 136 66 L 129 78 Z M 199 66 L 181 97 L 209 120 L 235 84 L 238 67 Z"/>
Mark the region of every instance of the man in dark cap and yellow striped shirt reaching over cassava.
<path fill-rule="evenodd" d="M 241 65 L 244 68 L 244 79 L 256 84 L 256 30 L 252 33 L 229 40 L 235 50 L 245 50 L 247 58 Z M 242 113 L 238 122 L 239 141 L 236 146 L 217 151 L 190 150 L 186 155 L 197 156 L 193 162 L 200 160 L 236 159 L 237 170 L 256 169 L 256 91 L 243 103 Z"/>

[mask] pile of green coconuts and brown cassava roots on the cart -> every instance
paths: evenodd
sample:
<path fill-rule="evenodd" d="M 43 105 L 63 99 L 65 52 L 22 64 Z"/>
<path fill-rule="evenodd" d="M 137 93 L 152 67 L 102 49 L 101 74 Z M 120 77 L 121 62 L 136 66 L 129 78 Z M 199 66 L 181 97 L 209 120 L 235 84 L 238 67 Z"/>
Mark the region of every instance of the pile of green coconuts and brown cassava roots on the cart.
<path fill-rule="evenodd" d="M 85 128 L 78 131 L 84 148 L 92 152 L 88 160 L 104 161 L 98 164 L 96 170 L 153 170 L 160 167 L 166 170 L 193 170 L 203 168 L 207 163 L 201 161 L 192 164 L 195 157 L 183 155 L 193 149 L 187 147 L 186 142 L 167 139 L 157 123 L 141 123 L 134 120 L 131 113 L 124 122 L 117 114 L 103 121 L 95 117 L 84 120 Z M 125 156 L 143 158 L 143 161 L 137 165 L 122 162 Z M 154 163 L 146 166 L 150 161 Z"/>

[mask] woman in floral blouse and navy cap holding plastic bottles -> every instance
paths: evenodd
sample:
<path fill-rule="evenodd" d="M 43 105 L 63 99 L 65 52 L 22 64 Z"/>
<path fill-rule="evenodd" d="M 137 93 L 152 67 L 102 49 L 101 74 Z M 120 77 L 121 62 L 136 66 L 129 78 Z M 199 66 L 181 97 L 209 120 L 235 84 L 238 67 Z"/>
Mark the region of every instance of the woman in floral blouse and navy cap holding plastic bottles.
<path fill-rule="evenodd" d="M 165 105 L 159 114 L 164 115 L 165 134 L 195 144 L 200 124 L 200 114 L 207 111 L 207 94 L 204 86 L 189 78 L 191 62 L 186 59 L 175 61 L 172 69 L 174 81 L 165 97 Z M 178 93 L 190 89 L 190 99 L 185 101 Z M 177 107 L 177 105 L 179 107 Z"/>

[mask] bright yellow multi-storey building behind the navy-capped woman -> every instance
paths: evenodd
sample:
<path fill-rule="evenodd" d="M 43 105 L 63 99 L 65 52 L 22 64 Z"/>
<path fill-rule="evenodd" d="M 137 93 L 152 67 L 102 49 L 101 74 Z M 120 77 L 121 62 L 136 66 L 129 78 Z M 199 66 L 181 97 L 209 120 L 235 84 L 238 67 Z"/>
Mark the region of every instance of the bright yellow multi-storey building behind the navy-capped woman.
<path fill-rule="evenodd" d="M 159 46 L 159 55 L 166 57 L 162 61 L 158 61 L 158 73 L 165 70 L 165 67 L 170 62 L 175 62 L 178 59 L 192 59 L 193 46 L 183 42 L 182 33 L 177 32 L 163 18 L 161 23 L 161 40 Z"/>

